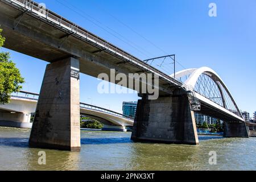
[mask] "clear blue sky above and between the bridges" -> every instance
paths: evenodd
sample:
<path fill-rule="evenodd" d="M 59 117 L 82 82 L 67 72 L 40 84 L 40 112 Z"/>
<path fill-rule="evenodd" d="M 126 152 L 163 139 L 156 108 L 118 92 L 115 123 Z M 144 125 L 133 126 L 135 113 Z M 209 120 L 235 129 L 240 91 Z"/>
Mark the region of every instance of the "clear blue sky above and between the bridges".
<path fill-rule="evenodd" d="M 177 60 L 185 68 L 207 66 L 214 69 L 228 85 L 241 110 L 247 110 L 251 115 L 256 110 L 255 0 L 44 0 L 42 2 L 46 3 L 48 9 L 141 59 L 162 56 L 166 54 L 165 52 L 175 53 Z M 208 16 L 210 2 L 217 5 L 217 17 Z M 78 11 L 80 13 L 77 13 Z M 164 52 L 138 34 L 143 35 Z M 120 39 L 129 41 L 137 49 L 143 48 L 143 54 Z M 23 90 L 39 92 L 47 63 L 17 52 L 10 52 L 26 79 Z M 177 70 L 181 69 L 183 68 L 178 65 Z M 81 74 L 81 101 L 89 104 L 92 102 L 94 105 L 110 107 L 121 112 L 122 101 L 138 99 L 137 94 L 110 96 L 98 94 L 98 82 L 96 78 Z"/>

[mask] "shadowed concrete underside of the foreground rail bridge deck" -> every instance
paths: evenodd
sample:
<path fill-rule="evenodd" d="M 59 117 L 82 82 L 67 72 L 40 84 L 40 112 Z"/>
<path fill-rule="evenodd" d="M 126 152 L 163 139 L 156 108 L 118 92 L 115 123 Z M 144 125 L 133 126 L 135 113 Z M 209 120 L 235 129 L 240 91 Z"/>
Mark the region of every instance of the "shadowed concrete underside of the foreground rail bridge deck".
<path fill-rule="evenodd" d="M 104 51 L 102 47 L 86 42 L 75 34 L 67 38 L 67 35 L 70 34 L 67 30 L 28 13 L 23 15 L 13 30 L 14 25 L 19 20 L 19 18 L 15 20 L 15 17 L 22 14 L 22 11 L 0 1 L 0 12 L 2 35 L 6 38 L 4 47 L 16 52 L 49 63 L 65 57 L 76 56 L 80 60 L 80 72 L 93 77 L 98 77 L 100 73 L 106 73 L 110 76 L 110 69 L 115 69 L 117 73 L 125 73 L 126 75 L 138 73 L 144 69 L 131 62 L 120 64 L 125 62 L 121 56 Z M 118 82 L 115 81 L 115 84 Z M 160 95 L 170 94 L 171 85 L 175 86 L 174 83 L 171 84 L 171 82 L 160 79 Z"/>

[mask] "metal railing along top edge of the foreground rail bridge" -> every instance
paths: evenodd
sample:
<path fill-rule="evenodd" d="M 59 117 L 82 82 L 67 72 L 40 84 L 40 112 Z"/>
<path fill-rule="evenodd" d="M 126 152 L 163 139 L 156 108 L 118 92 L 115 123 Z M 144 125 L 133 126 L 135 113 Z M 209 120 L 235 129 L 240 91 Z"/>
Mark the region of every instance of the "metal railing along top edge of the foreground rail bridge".
<path fill-rule="evenodd" d="M 137 57 L 131 55 L 123 51 L 122 49 L 114 46 L 113 44 L 107 42 L 106 40 L 98 37 L 97 35 L 92 34 L 91 32 L 85 30 L 84 28 L 78 26 L 75 23 L 63 18 L 51 10 L 46 9 L 45 13 L 42 13 L 42 9 L 38 3 L 31 0 L 1 0 L 5 2 L 9 2 L 12 5 L 16 5 L 18 7 L 22 7 L 24 11 L 27 10 L 27 13 L 31 13 L 32 15 L 36 14 L 39 18 L 44 18 L 48 22 L 56 24 L 60 26 L 62 30 L 69 32 L 72 36 L 76 36 L 85 42 L 89 42 L 93 46 L 99 47 L 112 55 L 119 57 L 125 60 L 127 63 L 133 64 L 135 67 L 142 69 L 144 71 L 148 71 L 150 73 L 154 73 L 154 75 L 159 76 L 162 80 L 170 82 L 171 84 L 176 84 L 183 87 L 183 84 L 177 81 L 175 78 L 168 76 L 166 73 L 159 71 L 158 69 L 152 67 L 151 65 L 144 63 L 142 60 L 139 60 Z"/>

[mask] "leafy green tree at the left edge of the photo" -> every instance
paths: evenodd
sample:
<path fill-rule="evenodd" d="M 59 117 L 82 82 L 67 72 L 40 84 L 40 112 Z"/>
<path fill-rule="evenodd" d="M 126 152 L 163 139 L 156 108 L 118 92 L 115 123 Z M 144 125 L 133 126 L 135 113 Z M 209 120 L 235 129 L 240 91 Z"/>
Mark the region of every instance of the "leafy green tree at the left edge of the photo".
<path fill-rule="evenodd" d="M 5 43 L 5 38 L 1 35 L 0 29 L 0 48 Z M 10 60 L 9 52 L 0 52 L 0 104 L 10 102 L 11 93 L 19 92 L 24 78 L 20 75 L 15 63 Z"/>

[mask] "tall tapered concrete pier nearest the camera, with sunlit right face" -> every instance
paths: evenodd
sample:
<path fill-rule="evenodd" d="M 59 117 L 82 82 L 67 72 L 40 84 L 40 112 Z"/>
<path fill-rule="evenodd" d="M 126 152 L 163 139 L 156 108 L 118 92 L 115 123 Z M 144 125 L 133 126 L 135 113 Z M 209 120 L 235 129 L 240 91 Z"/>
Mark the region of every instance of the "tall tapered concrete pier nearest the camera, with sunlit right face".
<path fill-rule="evenodd" d="M 79 60 L 70 57 L 47 65 L 29 145 L 80 150 Z"/>

